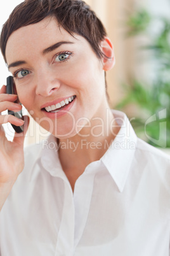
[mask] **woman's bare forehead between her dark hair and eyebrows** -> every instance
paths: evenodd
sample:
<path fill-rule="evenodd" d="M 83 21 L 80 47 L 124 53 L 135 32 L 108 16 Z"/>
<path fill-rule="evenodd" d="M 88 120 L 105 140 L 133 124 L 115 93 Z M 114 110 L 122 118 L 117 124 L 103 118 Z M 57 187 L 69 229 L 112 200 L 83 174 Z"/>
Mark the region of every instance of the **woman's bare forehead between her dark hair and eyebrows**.
<path fill-rule="evenodd" d="M 86 39 L 79 35 L 69 34 L 63 27 L 59 27 L 55 18 L 44 18 L 41 22 L 27 25 L 14 31 L 6 44 L 6 60 L 17 56 L 29 57 L 30 52 L 37 53 L 58 41 L 72 41 L 85 43 Z"/>

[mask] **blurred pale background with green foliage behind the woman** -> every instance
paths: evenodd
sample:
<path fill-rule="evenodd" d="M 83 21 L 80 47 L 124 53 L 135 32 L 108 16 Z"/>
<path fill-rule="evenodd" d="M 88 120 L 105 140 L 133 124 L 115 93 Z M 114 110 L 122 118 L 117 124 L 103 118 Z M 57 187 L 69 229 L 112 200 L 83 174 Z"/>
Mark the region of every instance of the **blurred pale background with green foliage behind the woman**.
<path fill-rule="evenodd" d="M 0 27 L 21 2 L 0 3 Z M 170 0 L 86 3 L 95 10 L 114 45 L 116 63 L 107 73 L 110 106 L 128 115 L 140 138 L 170 148 Z M 3 85 L 9 73 L 2 55 L 0 62 Z M 31 125 L 26 144 L 48 135 L 34 122 Z"/>

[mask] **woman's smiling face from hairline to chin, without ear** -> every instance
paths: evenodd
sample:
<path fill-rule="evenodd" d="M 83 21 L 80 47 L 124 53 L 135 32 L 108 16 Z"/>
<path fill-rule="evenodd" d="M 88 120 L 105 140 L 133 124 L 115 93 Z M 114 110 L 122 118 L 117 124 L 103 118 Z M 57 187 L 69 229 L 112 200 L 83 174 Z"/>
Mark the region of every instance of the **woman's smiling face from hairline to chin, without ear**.
<path fill-rule="evenodd" d="M 106 111 L 103 61 L 88 41 L 45 18 L 11 34 L 6 59 L 20 102 L 57 138 L 77 134 Z"/>

